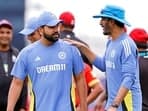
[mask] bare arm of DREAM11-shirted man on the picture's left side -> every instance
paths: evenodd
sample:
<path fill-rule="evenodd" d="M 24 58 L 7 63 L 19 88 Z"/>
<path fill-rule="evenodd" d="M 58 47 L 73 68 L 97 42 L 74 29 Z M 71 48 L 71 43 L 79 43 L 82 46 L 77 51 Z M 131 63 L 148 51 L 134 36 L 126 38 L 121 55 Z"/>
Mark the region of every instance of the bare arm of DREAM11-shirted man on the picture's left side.
<path fill-rule="evenodd" d="M 8 93 L 7 111 L 14 111 L 22 87 L 23 87 L 23 81 L 17 78 L 13 78 Z"/>

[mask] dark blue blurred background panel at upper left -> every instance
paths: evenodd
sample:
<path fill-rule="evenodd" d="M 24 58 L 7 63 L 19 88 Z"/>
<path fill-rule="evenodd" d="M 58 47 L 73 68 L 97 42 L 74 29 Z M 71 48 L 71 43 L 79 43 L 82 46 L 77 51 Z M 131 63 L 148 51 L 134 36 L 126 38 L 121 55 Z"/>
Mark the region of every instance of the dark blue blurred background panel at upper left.
<path fill-rule="evenodd" d="M 13 24 L 13 44 L 22 49 L 25 46 L 24 37 L 18 32 L 24 27 L 25 0 L 0 0 L 0 20 L 7 19 Z"/>

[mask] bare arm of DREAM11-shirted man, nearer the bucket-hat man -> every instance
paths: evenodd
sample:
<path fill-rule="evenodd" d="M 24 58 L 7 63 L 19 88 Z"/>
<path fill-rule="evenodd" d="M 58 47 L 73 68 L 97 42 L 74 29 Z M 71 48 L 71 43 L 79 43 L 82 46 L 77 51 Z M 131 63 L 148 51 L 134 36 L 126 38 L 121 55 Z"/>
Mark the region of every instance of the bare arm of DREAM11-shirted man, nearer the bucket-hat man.
<path fill-rule="evenodd" d="M 86 86 L 86 82 L 85 82 L 83 73 L 79 74 L 76 77 L 76 87 L 77 87 L 78 95 L 80 98 L 80 108 L 83 111 L 87 111 L 87 103 L 86 103 L 87 86 Z"/>

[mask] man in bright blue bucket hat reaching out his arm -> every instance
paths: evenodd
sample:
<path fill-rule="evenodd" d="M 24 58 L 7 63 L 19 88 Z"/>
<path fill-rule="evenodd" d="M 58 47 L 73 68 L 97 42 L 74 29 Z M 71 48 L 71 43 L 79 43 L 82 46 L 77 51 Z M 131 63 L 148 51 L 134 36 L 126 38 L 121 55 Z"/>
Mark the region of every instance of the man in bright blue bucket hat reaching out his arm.
<path fill-rule="evenodd" d="M 130 24 L 125 20 L 124 9 L 107 5 L 94 18 L 101 18 L 103 34 L 109 36 L 103 57 L 98 57 L 82 43 L 69 41 L 75 44 L 97 68 L 106 73 L 105 110 L 141 111 L 138 51 L 133 40 L 125 32 L 125 25 L 130 26 Z M 127 96 L 128 102 L 125 100 Z M 100 101 L 106 97 L 100 97 Z"/>

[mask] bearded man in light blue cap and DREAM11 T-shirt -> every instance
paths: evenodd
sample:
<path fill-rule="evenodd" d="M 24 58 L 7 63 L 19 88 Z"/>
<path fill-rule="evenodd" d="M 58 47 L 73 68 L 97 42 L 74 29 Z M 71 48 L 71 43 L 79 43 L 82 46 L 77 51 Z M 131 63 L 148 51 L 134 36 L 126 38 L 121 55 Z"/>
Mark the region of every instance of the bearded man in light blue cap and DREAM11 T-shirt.
<path fill-rule="evenodd" d="M 87 111 L 84 66 L 78 49 L 59 40 L 61 21 L 54 14 L 42 13 L 39 22 L 42 24 L 41 39 L 22 49 L 12 69 L 7 111 L 14 111 L 27 75 L 32 82 L 36 111 L 72 111 L 70 87 L 73 73 L 81 111 Z"/>

